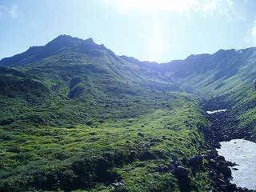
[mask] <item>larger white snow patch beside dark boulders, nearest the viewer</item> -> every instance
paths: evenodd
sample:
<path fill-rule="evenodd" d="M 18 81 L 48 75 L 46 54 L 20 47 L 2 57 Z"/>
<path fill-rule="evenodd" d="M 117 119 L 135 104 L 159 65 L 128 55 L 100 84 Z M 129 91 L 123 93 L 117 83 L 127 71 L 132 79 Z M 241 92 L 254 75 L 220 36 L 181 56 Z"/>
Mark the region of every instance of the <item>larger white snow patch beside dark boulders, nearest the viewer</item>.
<path fill-rule="evenodd" d="M 232 171 L 231 183 L 256 190 L 256 143 L 244 139 L 233 139 L 230 142 L 220 142 L 218 154 L 226 161 L 235 162 L 237 166 L 230 167 Z"/>

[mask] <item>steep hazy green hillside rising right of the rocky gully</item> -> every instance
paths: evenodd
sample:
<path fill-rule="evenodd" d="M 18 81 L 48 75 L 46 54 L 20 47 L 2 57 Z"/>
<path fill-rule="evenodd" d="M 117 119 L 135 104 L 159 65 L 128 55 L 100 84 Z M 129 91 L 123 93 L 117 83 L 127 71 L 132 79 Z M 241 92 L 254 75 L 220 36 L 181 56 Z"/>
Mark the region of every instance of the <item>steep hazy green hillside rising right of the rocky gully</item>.
<path fill-rule="evenodd" d="M 225 125 L 227 129 L 256 130 L 255 64 L 256 49 L 252 47 L 190 55 L 185 60 L 163 63 L 158 70 L 201 97 L 205 110 L 229 110 L 233 123 Z"/>

